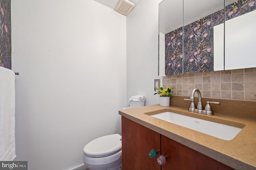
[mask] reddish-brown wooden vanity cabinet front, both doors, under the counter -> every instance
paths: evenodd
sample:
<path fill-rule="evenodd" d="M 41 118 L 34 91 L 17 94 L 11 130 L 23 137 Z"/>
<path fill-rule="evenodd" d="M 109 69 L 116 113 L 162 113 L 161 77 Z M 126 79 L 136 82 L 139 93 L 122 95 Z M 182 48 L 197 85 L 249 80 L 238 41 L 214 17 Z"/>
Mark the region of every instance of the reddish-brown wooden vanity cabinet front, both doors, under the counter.
<path fill-rule="evenodd" d="M 160 149 L 161 148 L 161 149 Z M 150 158 L 151 149 L 160 149 Z M 160 166 L 157 158 L 168 155 Z M 234 170 L 194 149 L 122 117 L 122 170 Z"/>

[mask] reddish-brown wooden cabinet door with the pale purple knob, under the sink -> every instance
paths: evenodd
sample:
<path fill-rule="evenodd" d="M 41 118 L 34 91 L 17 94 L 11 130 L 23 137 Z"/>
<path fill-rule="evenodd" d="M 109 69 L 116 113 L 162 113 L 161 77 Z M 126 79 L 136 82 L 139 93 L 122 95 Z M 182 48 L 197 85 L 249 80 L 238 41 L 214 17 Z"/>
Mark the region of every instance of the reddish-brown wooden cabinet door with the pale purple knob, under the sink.
<path fill-rule="evenodd" d="M 196 150 L 161 135 L 162 155 L 168 155 L 162 170 L 234 170 Z"/>

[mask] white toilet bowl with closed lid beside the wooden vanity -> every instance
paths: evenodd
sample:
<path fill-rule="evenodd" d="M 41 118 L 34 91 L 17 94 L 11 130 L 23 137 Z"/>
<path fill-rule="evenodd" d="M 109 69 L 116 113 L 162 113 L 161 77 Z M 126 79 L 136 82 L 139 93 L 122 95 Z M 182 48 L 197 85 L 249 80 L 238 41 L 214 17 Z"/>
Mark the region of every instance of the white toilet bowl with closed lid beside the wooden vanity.
<path fill-rule="evenodd" d="M 84 164 L 90 170 L 122 169 L 122 136 L 110 134 L 84 146 Z"/>

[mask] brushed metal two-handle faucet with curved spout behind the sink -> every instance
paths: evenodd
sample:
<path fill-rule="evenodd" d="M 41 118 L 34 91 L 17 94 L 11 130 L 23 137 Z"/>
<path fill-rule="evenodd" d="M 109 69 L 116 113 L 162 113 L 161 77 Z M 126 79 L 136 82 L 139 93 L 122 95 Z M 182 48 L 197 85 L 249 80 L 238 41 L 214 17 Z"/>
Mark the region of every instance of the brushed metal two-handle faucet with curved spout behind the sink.
<path fill-rule="evenodd" d="M 195 101 L 195 93 L 197 92 L 198 94 L 198 103 L 197 103 L 197 107 L 196 104 L 194 103 Z M 194 89 L 191 92 L 190 95 L 190 99 L 184 99 L 184 101 L 191 101 L 190 103 L 190 107 L 188 108 L 188 111 L 190 112 L 196 112 L 196 113 L 202 113 L 205 115 L 214 115 L 213 111 L 212 111 L 212 107 L 210 106 L 210 103 L 212 104 L 216 104 L 216 105 L 220 105 L 220 102 L 210 102 L 207 101 L 206 106 L 205 106 L 205 110 L 203 109 L 203 105 L 202 105 L 202 95 L 199 89 Z"/>

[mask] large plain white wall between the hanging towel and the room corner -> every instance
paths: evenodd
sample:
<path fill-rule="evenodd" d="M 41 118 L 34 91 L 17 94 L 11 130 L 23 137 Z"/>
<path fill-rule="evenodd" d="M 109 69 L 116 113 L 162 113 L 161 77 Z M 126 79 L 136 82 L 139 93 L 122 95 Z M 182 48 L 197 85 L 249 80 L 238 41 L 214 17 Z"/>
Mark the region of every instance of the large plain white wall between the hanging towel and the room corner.
<path fill-rule="evenodd" d="M 94 0 L 12 0 L 12 69 L 15 160 L 29 170 L 83 164 L 86 143 L 121 133 L 125 16 Z"/>

